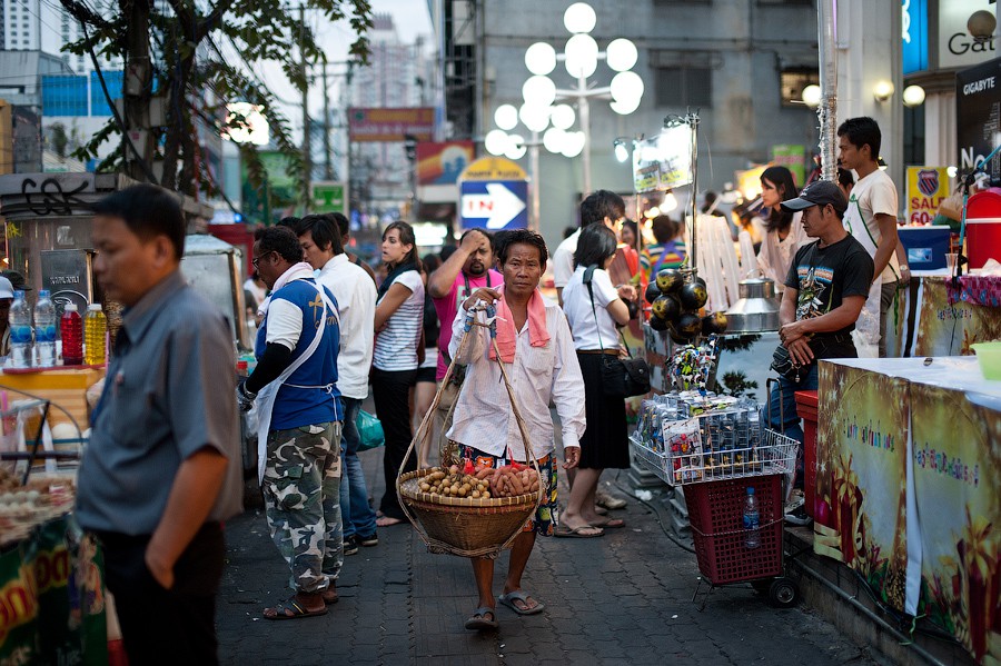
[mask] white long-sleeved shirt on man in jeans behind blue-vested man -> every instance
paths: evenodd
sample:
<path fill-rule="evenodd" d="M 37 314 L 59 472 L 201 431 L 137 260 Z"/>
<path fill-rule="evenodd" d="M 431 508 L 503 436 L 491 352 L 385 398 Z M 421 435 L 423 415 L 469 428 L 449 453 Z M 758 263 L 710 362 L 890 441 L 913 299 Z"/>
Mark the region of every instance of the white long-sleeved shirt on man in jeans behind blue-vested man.
<path fill-rule="evenodd" d="M 337 388 L 341 396 L 364 400 L 368 397 L 375 336 L 375 285 L 365 269 L 351 264 L 344 254 L 324 265 L 317 281 L 330 290 L 340 312 Z"/>

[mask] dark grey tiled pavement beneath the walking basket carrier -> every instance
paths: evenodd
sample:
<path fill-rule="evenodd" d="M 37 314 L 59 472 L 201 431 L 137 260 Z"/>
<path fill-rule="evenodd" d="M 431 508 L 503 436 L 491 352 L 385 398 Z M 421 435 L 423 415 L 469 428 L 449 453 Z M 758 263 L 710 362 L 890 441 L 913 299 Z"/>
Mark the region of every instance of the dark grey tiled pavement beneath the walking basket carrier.
<path fill-rule="evenodd" d="M 381 476 L 376 473 L 380 456 L 379 450 L 363 454 L 370 481 Z M 381 484 L 375 485 L 378 498 Z M 498 606 L 499 630 L 477 634 L 463 628 L 477 605 L 472 567 L 462 558 L 428 554 L 407 525 L 379 530 L 378 546 L 346 558 L 337 586 L 340 602 L 328 615 L 262 619 L 266 605 L 289 594 L 288 575 L 264 515 L 250 508 L 226 527 L 229 561 L 218 610 L 221 660 L 240 666 L 824 666 L 882 660 L 809 608 L 775 609 L 750 585 L 713 590 L 700 612 L 692 600 L 695 556 L 668 539 L 656 503 L 631 499 L 615 515 L 625 518 L 626 527 L 602 538 L 539 538 L 524 587 L 546 610 L 519 617 Z M 498 594 L 506 560 L 498 560 Z"/>

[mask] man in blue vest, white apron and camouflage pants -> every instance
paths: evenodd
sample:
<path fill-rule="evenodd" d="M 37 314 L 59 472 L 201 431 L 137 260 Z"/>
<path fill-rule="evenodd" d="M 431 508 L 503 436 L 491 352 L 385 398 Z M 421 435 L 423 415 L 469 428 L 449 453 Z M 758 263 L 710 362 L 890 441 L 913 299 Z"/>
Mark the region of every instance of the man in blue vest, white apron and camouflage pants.
<path fill-rule="evenodd" d="M 301 261 L 285 227 L 258 231 L 254 266 L 272 290 L 257 335 L 257 367 L 237 389 L 241 406 L 258 400 L 261 490 L 271 538 L 291 569 L 296 594 L 266 619 L 326 615 L 337 602 L 344 563 L 340 518 L 340 427 L 337 390 L 340 325 L 337 301 Z"/>

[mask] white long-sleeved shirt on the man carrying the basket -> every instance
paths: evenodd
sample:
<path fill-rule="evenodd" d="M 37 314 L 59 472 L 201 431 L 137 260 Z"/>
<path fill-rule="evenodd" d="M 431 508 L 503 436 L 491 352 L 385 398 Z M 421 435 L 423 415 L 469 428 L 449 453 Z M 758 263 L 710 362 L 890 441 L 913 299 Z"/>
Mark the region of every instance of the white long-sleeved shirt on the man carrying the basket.
<path fill-rule="evenodd" d="M 478 312 L 477 317 L 482 319 L 483 314 Z M 493 456 L 505 454 L 509 444 L 514 458 L 525 460 L 522 433 L 511 408 L 500 368 L 487 355 L 488 329 L 474 327 L 466 349 L 462 356 L 456 356 L 465 319 L 466 310 L 459 307 L 448 352 L 457 362 L 467 364 L 468 370 L 448 437 Z M 514 364 L 505 365 L 536 459 L 555 449 L 551 398 L 563 426 L 564 448 L 579 447 L 586 426 L 584 379 L 574 351 L 574 339 L 563 310 L 555 304 L 546 302 L 546 328 L 549 342 L 545 347 L 532 347 L 526 321 L 517 334 Z"/>

